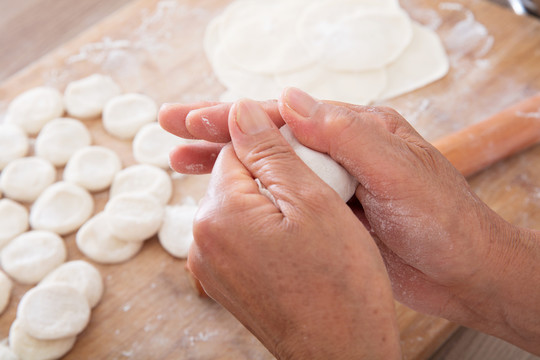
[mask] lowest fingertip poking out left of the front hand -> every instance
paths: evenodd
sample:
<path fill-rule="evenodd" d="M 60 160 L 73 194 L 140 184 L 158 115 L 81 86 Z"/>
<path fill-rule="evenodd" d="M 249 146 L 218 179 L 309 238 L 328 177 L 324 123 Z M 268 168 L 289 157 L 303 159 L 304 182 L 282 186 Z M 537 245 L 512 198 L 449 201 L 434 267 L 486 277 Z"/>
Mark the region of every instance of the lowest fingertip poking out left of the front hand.
<path fill-rule="evenodd" d="M 169 164 L 174 171 L 182 174 L 209 174 L 224 146 L 209 142 L 182 144 L 170 152 Z"/>

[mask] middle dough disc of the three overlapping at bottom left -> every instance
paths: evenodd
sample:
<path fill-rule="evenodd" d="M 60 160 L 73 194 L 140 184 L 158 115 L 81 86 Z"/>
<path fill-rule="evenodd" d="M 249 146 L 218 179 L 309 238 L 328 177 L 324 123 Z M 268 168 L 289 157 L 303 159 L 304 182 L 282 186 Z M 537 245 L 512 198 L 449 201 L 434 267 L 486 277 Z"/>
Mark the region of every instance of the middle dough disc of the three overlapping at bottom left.
<path fill-rule="evenodd" d="M 21 298 L 17 318 L 28 335 L 40 340 L 75 336 L 90 320 L 86 297 L 66 284 L 34 287 Z"/>

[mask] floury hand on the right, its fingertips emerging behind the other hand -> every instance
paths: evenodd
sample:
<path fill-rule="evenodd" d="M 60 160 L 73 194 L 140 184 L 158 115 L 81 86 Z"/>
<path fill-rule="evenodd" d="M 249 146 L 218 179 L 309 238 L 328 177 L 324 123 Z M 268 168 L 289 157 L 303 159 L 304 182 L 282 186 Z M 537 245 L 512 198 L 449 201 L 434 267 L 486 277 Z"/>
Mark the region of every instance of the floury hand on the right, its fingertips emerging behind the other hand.
<path fill-rule="evenodd" d="M 329 154 L 359 180 L 356 196 L 363 210 L 356 213 L 378 239 L 399 301 L 540 351 L 540 292 L 523 293 L 540 281 L 534 232 L 493 213 L 391 109 L 321 102 L 297 89 L 262 106 L 275 124 L 286 122 L 300 142 Z M 166 129 L 210 141 L 174 151 L 175 169 L 212 169 L 229 140 L 229 109 L 230 104 L 162 109 Z"/>

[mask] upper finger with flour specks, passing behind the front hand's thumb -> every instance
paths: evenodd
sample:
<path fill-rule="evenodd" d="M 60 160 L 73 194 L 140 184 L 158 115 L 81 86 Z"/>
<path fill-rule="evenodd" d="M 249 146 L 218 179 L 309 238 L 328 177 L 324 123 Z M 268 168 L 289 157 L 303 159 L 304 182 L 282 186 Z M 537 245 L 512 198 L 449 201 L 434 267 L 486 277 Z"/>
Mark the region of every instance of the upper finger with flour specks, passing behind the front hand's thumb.
<path fill-rule="evenodd" d="M 284 124 L 276 100 L 261 101 L 259 104 L 277 127 Z M 187 130 L 198 139 L 221 143 L 231 141 L 228 126 L 231 106 L 231 103 L 222 103 L 190 111 L 185 121 Z"/>

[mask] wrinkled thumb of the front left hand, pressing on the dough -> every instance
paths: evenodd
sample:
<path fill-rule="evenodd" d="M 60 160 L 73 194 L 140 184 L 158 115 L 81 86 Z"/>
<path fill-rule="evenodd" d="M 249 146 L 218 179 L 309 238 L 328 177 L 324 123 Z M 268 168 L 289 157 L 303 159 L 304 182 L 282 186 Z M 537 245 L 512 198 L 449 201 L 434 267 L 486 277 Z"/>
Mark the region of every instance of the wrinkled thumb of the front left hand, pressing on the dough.
<path fill-rule="evenodd" d="M 257 102 L 240 100 L 233 105 L 229 132 L 236 156 L 270 191 L 285 216 L 288 209 L 313 208 L 329 199 L 342 202 L 296 155 Z"/>

